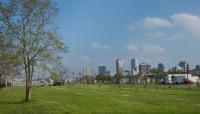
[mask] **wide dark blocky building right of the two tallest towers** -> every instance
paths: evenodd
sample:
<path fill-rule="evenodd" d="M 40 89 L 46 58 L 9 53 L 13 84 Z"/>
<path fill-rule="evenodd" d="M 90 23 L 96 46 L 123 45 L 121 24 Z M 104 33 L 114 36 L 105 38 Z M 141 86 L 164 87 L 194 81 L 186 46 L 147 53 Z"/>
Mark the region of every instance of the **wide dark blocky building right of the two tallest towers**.
<path fill-rule="evenodd" d="M 139 65 L 139 74 L 149 74 L 151 70 L 151 65 L 142 63 Z"/>

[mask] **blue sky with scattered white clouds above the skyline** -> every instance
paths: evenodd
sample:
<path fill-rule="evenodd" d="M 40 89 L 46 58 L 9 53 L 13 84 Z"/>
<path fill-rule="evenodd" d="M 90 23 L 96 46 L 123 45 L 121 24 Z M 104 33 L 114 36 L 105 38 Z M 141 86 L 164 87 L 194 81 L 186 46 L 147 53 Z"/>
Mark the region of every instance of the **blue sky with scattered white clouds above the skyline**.
<path fill-rule="evenodd" d="M 99 65 L 115 72 L 115 61 L 130 59 L 167 68 L 179 61 L 200 64 L 199 0 L 54 0 L 55 23 L 69 52 L 63 62 L 81 72 Z"/>

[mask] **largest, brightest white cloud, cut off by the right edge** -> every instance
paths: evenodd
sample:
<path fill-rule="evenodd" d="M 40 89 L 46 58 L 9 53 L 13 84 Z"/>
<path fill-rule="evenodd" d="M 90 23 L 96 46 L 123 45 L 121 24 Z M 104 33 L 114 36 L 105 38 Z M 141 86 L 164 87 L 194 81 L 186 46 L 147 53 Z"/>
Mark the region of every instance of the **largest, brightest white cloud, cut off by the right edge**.
<path fill-rule="evenodd" d="M 193 36 L 200 37 L 200 17 L 188 13 L 179 13 L 171 16 L 172 21 L 183 27 L 188 33 Z"/>

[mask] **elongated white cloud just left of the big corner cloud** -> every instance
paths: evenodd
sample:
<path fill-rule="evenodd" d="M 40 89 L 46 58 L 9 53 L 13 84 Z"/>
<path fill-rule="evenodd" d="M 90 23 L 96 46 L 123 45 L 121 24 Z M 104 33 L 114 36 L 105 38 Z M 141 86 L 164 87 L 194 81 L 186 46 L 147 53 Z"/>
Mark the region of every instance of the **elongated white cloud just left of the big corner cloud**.
<path fill-rule="evenodd" d="M 143 26 L 145 27 L 149 27 L 149 28 L 172 28 L 174 27 L 174 25 L 166 20 L 166 19 L 162 19 L 162 18 L 158 18 L 158 17 L 147 17 L 145 18 L 142 23 Z"/>

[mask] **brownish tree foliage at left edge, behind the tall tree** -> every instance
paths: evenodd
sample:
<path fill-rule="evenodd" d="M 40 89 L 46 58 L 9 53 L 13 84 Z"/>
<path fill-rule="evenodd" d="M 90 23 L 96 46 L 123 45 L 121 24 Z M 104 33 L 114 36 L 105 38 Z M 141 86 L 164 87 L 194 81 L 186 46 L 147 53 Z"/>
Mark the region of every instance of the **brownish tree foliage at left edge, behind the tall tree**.
<path fill-rule="evenodd" d="M 18 54 L 13 50 L 10 39 L 0 33 L 0 87 L 7 86 L 6 79 L 13 78 L 19 72 Z"/>

